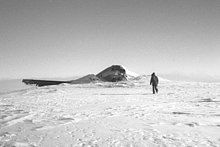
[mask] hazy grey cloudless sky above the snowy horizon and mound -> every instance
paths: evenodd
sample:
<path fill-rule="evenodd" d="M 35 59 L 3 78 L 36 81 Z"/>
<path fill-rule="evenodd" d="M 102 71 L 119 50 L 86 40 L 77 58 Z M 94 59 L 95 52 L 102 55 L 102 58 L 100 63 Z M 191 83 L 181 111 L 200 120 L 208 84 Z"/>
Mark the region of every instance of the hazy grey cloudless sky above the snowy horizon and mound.
<path fill-rule="evenodd" d="M 220 0 L 0 0 L 0 78 L 220 75 Z"/>

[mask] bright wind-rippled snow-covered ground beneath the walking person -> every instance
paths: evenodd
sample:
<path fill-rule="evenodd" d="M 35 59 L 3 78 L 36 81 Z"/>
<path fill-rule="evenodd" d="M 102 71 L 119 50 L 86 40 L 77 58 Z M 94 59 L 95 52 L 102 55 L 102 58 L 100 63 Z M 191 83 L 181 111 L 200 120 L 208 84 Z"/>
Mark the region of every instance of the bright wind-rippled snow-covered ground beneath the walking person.
<path fill-rule="evenodd" d="M 0 95 L 0 146 L 220 146 L 220 84 L 32 87 Z"/>

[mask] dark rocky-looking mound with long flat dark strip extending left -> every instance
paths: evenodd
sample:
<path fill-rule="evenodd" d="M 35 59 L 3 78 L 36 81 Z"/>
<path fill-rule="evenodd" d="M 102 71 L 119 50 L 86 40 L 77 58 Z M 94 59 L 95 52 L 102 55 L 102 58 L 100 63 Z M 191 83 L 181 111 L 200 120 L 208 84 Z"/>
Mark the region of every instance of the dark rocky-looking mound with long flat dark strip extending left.
<path fill-rule="evenodd" d="M 106 68 L 97 75 L 90 74 L 79 78 L 77 80 L 70 81 L 49 81 L 49 80 L 34 80 L 34 79 L 23 79 L 22 82 L 27 85 L 36 85 L 36 86 L 48 86 L 48 85 L 59 85 L 62 83 L 68 84 L 84 84 L 96 81 L 103 82 L 118 82 L 127 80 L 127 75 L 125 69 L 120 65 L 112 65 L 111 67 Z"/>

